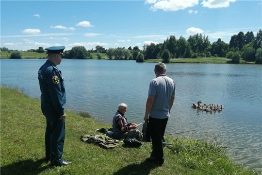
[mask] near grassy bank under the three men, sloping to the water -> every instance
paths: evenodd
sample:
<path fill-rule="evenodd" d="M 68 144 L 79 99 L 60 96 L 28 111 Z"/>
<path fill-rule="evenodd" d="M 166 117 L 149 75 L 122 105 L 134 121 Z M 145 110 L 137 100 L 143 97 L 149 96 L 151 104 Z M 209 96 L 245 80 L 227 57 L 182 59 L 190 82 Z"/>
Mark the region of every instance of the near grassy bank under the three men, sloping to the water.
<path fill-rule="evenodd" d="M 262 175 L 261 172 L 234 163 L 215 136 L 207 140 L 174 135 L 165 136 L 165 161 L 155 166 L 146 161 L 151 144 L 139 148 L 113 149 L 81 142 L 80 137 L 99 134 L 97 129 L 111 124 L 92 119 L 87 112 L 66 111 L 66 140 L 63 157 L 73 163 L 50 167 L 45 157 L 46 121 L 40 100 L 23 94 L 18 88 L 0 87 L 1 175 Z"/>

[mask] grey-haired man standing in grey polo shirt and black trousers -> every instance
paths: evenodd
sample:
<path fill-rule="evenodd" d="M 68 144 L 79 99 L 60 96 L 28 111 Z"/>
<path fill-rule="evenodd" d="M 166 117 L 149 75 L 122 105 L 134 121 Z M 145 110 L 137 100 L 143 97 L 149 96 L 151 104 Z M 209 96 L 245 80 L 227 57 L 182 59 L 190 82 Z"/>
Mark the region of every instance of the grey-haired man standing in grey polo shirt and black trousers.
<path fill-rule="evenodd" d="M 162 165 L 164 163 L 163 139 L 165 127 L 170 116 L 170 110 L 175 100 L 176 83 L 165 74 L 164 63 L 155 65 L 156 78 L 151 80 L 148 90 L 146 112 L 144 120 L 150 123 L 152 140 L 152 155 L 147 161 Z"/>

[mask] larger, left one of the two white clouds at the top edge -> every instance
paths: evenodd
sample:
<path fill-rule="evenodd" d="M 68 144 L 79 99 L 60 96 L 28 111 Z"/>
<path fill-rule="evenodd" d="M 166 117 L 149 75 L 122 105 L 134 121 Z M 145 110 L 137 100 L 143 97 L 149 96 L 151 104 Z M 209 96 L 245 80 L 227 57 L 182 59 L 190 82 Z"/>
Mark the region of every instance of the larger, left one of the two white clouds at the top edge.
<path fill-rule="evenodd" d="M 148 3 L 148 1 L 146 1 Z M 153 1 L 149 1 L 153 2 Z M 150 7 L 150 10 L 156 11 L 158 9 L 164 11 L 177 11 L 183 10 L 188 7 L 193 7 L 198 4 L 198 0 L 158 0 L 154 1 L 154 5 Z"/>

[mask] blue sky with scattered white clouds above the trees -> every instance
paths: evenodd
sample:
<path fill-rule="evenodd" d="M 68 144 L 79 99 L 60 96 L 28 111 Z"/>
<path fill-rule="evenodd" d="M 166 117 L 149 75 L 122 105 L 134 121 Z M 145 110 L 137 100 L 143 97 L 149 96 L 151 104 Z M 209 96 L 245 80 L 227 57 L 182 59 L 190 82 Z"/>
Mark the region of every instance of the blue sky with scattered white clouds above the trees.
<path fill-rule="evenodd" d="M 0 47 L 97 45 L 104 48 L 163 43 L 170 35 L 208 35 L 229 43 L 239 32 L 262 28 L 261 0 L 1 0 Z"/>

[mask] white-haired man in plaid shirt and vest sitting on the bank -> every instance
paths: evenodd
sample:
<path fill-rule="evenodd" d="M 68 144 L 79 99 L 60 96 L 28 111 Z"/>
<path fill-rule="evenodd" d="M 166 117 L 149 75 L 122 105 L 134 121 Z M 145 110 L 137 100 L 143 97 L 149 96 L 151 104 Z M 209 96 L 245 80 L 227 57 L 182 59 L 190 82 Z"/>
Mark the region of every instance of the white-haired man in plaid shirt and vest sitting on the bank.
<path fill-rule="evenodd" d="M 137 124 L 127 122 L 126 111 L 126 104 L 118 105 L 118 110 L 113 118 L 113 136 L 116 139 L 135 138 L 136 140 L 142 140 L 142 133 L 136 129 Z"/>

